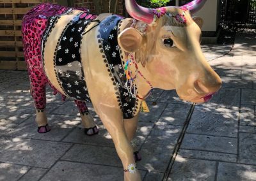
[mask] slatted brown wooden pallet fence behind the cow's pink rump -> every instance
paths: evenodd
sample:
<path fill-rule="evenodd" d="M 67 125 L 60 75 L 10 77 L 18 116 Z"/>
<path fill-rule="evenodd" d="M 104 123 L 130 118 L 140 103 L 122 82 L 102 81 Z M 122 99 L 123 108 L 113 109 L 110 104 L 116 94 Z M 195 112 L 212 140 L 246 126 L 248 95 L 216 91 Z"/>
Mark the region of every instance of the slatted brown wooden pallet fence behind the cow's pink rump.
<path fill-rule="evenodd" d="M 0 0 L 0 69 L 26 69 L 21 21 L 25 13 L 40 3 L 55 0 Z"/>

